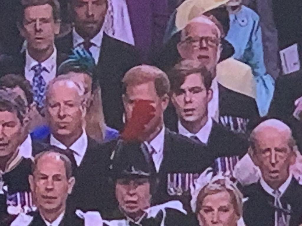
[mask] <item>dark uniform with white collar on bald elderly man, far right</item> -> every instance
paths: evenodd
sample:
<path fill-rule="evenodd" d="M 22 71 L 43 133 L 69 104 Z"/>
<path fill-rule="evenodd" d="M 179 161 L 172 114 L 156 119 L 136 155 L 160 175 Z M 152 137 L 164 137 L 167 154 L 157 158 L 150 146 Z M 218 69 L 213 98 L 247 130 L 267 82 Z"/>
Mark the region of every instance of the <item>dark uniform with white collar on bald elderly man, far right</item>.
<path fill-rule="evenodd" d="M 289 177 L 279 187 L 271 189 L 263 179 L 243 187 L 247 201 L 243 206 L 243 220 L 246 226 L 298 226 L 302 223 L 302 187 Z"/>

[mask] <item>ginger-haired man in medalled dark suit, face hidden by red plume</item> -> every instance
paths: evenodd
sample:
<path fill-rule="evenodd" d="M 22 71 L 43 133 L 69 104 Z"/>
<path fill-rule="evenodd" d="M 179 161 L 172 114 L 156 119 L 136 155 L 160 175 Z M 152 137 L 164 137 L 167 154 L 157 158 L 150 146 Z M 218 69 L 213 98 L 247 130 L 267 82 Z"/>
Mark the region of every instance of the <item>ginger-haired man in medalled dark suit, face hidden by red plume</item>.
<path fill-rule="evenodd" d="M 205 147 L 165 128 L 163 112 L 169 102 L 170 90 L 167 75 L 153 66 L 137 66 L 125 74 L 123 84 L 126 125 L 121 136 L 125 140 L 143 142 L 152 156 L 159 183 L 152 205 L 189 192 L 193 174 L 203 172 L 211 162 Z M 115 143 L 109 148 L 114 149 Z M 168 177 L 174 177 L 174 174 L 182 178 L 177 182 L 175 179 L 174 184 L 168 183 Z M 189 203 L 185 205 L 189 206 Z"/>

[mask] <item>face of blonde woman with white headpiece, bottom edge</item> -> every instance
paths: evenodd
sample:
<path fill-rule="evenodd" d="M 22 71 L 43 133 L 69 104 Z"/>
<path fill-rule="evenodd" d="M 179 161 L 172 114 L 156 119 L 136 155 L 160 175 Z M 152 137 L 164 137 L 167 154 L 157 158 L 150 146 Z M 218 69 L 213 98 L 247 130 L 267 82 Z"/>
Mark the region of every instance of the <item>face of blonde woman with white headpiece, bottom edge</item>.
<path fill-rule="evenodd" d="M 197 213 L 201 226 L 236 226 L 239 216 L 236 214 L 230 193 L 221 191 L 207 195 L 200 204 Z"/>

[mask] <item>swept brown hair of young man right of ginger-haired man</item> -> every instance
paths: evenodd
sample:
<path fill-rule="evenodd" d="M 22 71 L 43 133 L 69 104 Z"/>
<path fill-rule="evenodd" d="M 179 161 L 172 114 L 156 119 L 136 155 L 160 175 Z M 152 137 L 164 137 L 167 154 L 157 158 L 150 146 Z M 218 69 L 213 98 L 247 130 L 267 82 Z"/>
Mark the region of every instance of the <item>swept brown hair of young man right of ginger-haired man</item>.
<path fill-rule="evenodd" d="M 169 71 L 168 76 L 171 83 L 171 92 L 175 93 L 185 82 L 185 78 L 191 74 L 200 74 L 206 90 L 212 86 L 212 73 L 198 61 L 182 60 Z"/>

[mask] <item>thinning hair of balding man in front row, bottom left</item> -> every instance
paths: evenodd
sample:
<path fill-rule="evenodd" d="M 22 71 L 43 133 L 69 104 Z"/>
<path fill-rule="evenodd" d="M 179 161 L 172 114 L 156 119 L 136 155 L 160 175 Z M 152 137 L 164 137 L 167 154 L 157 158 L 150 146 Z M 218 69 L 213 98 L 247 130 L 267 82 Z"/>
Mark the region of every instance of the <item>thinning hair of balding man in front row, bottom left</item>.
<path fill-rule="evenodd" d="M 32 162 L 32 165 L 31 165 L 32 174 L 34 174 L 34 172 L 36 171 L 37 164 L 43 156 L 50 155 L 50 154 L 55 154 L 64 163 L 66 178 L 69 179 L 70 177 L 72 177 L 72 164 L 71 164 L 69 158 L 62 153 L 63 151 L 64 150 L 62 150 L 62 149 L 51 146 L 51 147 L 47 148 L 47 151 L 43 151 L 43 152 L 40 152 L 39 154 L 37 154 L 34 158 L 34 161 Z"/>

